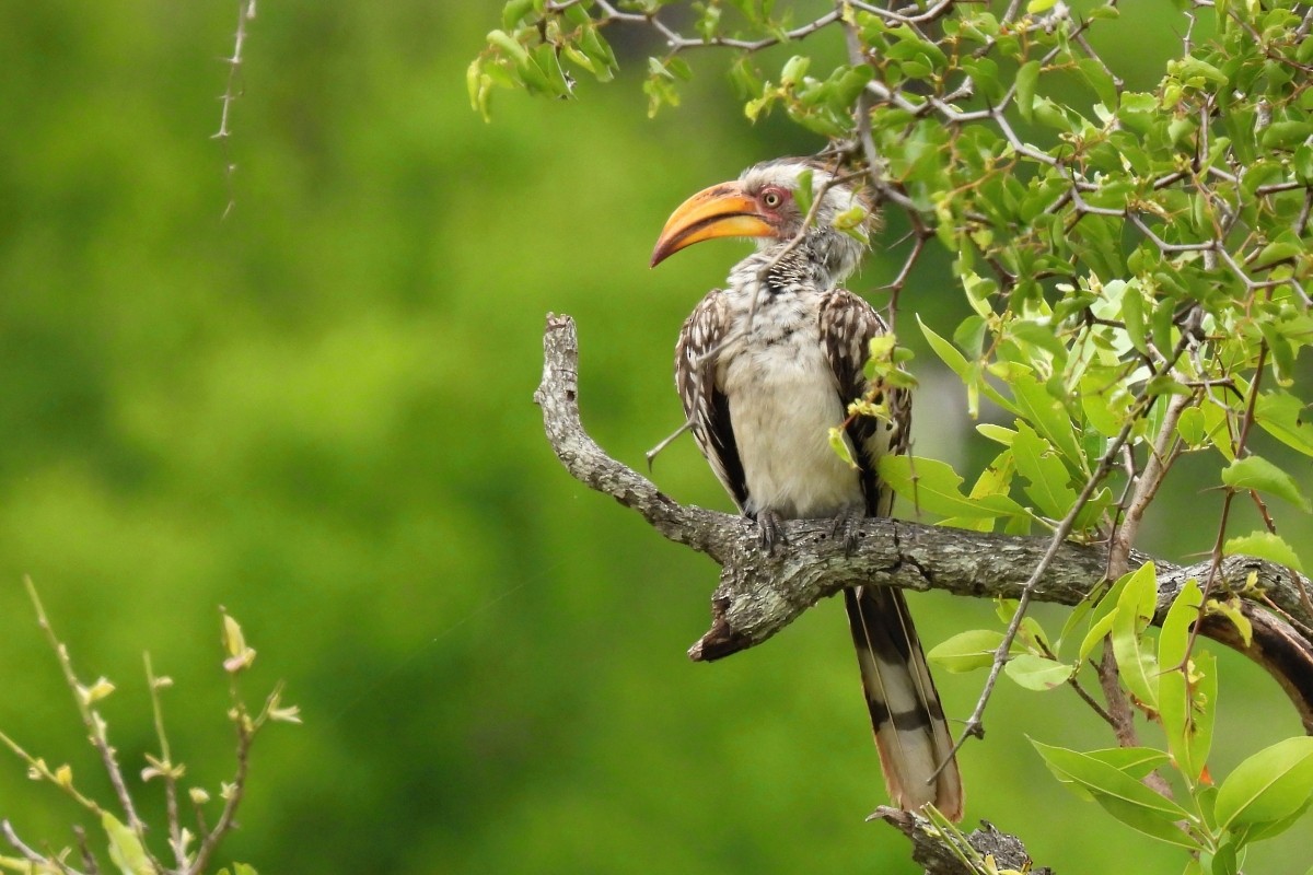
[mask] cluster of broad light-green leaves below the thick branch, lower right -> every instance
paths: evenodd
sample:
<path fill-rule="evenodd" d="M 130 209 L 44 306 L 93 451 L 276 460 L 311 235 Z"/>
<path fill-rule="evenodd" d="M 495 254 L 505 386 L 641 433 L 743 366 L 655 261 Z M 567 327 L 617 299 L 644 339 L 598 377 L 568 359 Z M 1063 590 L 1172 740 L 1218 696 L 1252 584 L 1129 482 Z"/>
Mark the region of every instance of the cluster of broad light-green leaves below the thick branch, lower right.
<path fill-rule="evenodd" d="M 1226 617 L 1247 640 L 1247 621 L 1233 603 L 1205 598 L 1191 580 L 1173 601 L 1154 636 L 1158 580 L 1153 563 L 1117 580 L 1098 601 L 1083 602 L 1050 638 L 1032 618 L 1011 647 L 1006 673 L 1037 691 L 1079 686 L 1083 666 L 1111 647 L 1137 708 L 1161 729 L 1163 748 L 1124 745 L 1071 750 L 1033 741 L 1049 769 L 1078 795 L 1092 799 L 1140 833 L 1192 853 L 1186 874 L 1232 875 L 1246 846 L 1288 829 L 1313 802 L 1313 737 L 1287 739 L 1254 753 L 1215 783 L 1208 756 L 1217 719 L 1217 664 L 1191 648 L 1203 614 Z M 1004 615 L 1011 609 L 1004 606 Z M 930 659 L 949 672 L 987 668 L 1002 632 L 962 632 Z M 1064 653 L 1070 653 L 1064 657 Z M 1170 777 L 1170 794 L 1146 786 Z"/>

